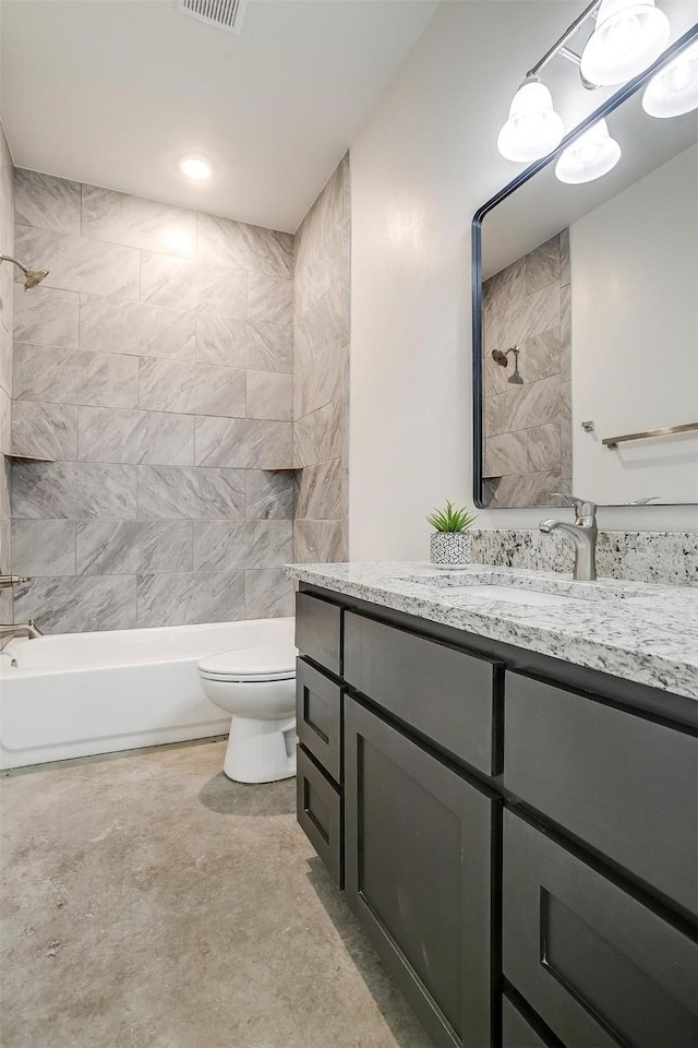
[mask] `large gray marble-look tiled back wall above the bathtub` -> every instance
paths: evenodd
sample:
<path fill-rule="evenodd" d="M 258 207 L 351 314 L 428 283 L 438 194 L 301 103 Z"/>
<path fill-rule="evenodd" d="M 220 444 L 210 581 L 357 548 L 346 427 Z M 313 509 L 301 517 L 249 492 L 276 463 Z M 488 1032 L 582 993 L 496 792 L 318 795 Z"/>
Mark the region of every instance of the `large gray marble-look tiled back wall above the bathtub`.
<path fill-rule="evenodd" d="M 13 467 L 15 621 L 291 614 L 293 237 L 23 170 L 15 217 L 50 272 L 15 286 L 13 452 L 51 460 Z"/>

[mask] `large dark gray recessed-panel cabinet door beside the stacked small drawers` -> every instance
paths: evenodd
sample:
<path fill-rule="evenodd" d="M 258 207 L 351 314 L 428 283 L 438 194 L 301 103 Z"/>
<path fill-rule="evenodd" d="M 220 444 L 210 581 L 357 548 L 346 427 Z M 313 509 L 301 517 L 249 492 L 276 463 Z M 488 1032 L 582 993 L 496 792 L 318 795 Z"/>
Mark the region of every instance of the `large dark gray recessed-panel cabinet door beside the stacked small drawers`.
<path fill-rule="evenodd" d="M 345 699 L 349 903 L 435 1044 L 491 1040 L 497 800 Z"/>

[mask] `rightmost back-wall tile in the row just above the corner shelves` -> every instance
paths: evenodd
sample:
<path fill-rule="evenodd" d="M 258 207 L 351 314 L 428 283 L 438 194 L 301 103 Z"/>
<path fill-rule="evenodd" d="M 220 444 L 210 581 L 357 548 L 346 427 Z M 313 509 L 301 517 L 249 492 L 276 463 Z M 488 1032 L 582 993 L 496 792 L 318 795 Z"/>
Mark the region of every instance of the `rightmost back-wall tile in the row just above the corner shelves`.
<path fill-rule="evenodd" d="M 253 418 L 196 418 L 197 466 L 282 469 L 292 465 L 291 422 Z"/>

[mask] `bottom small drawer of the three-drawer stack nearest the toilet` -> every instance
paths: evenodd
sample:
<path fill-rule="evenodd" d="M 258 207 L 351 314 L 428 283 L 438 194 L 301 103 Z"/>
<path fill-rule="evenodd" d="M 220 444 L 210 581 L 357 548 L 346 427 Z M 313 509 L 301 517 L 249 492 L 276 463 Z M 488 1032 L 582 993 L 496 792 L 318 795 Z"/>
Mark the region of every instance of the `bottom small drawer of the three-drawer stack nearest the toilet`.
<path fill-rule="evenodd" d="M 337 888 L 342 886 L 341 795 L 298 747 L 296 815 Z"/>

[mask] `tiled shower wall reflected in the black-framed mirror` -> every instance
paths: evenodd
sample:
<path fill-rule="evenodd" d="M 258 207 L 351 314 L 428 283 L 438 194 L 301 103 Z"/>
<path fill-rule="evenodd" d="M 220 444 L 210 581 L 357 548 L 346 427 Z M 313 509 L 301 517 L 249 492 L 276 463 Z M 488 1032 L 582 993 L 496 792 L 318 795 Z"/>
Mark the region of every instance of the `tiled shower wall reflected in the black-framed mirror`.
<path fill-rule="evenodd" d="M 483 285 L 484 489 L 489 505 L 545 505 L 571 483 L 568 230 Z M 493 349 L 518 345 L 521 384 Z"/>

